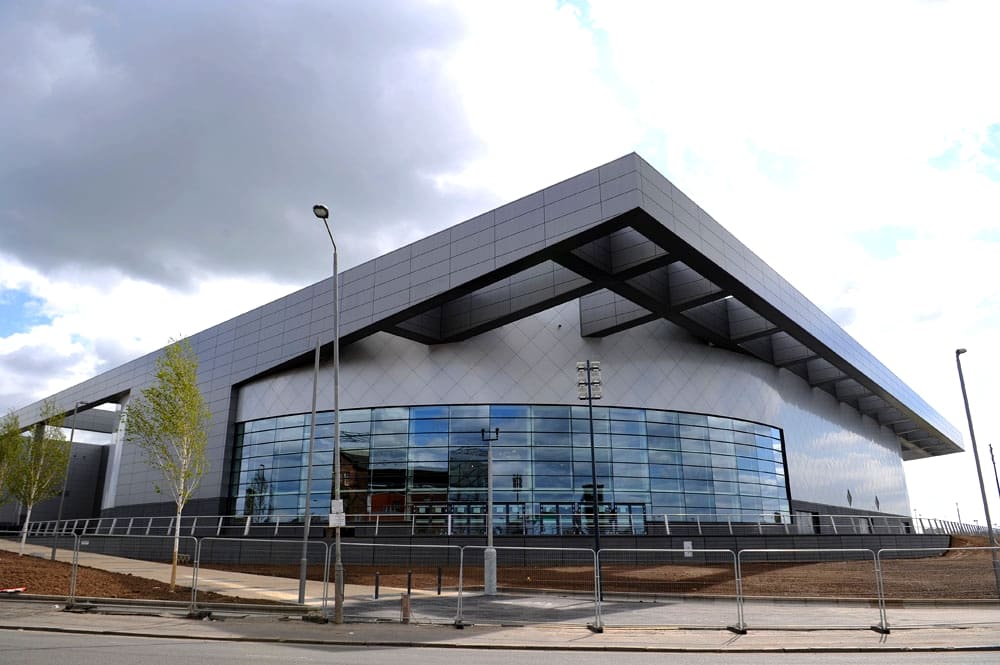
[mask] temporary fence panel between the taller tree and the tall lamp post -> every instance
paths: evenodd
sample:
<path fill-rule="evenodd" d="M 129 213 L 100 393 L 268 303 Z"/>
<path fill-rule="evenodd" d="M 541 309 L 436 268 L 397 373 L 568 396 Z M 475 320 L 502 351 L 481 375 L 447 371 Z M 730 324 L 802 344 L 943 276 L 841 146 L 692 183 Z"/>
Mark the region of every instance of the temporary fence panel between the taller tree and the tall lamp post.
<path fill-rule="evenodd" d="M 310 540 L 305 545 L 303 601 L 307 606 L 325 611 L 329 548 L 322 540 Z M 213 602 L 268 607 L 297 605 L 302 559 L 301 539 L 202 538 L 198 548 L 199 605 Z M 249 578 L 251 585 L 247 583 L 249 575 L 254 576 Z"/>

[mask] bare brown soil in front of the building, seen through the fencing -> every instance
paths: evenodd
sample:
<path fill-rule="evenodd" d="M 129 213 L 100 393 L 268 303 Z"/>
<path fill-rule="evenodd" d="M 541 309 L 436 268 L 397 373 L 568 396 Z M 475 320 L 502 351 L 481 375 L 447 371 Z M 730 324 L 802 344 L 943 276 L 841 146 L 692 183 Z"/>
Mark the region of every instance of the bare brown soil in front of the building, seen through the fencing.
<path fill-rule="evenodd" d="M 985 538 L 955 537 L 952 547 L 983 547 Z M 989 599 L 996 598 L 996 583 L 988 551 L 949 551 L 944 556 L 921 559 L 891 559 L 883 564 L 886 598 Z M 257 574 L 295 578 L 298 566 L 229 566 Z M 383 588 L 434 590 L 458 586 L 457 566 L 347 566 L 348 584 L 374 587 L 376 573 Z M 747 596 L 874 598 L 877 596 L 874 563 L 845 561 L 823 563 L 745 562 L 743 592 Z M 507 566 L 497 571 L 501 588 L 536 590 L 593 589 L 589 566 Z M 601 571 L 604 592 L 635 595 L 698 594 L 732 596 L 736 593 L 732 564 L 691 565 L 633 561 L 605 565 Z M 321 579 L 320 567 L 312 567 L 310 578 Z M 23 586 L 26 593 L 65 596 L 69 590 L 70 566 L 33 556 L 18 557 L 0 551 L 0 587 Z M 474 589 L 482 584 L 482 569 L 465 570 L 464 584 Z M 188 601 L 191 590 L 178 586 L 170 592 L 162 582 L 133 575 L 81 568 L 78 597 L 145 598 Z M 203 602 L 246 602 L 238 597 L 199 593 Z M 254 600 L 252 602 L 260 602 Z"/>

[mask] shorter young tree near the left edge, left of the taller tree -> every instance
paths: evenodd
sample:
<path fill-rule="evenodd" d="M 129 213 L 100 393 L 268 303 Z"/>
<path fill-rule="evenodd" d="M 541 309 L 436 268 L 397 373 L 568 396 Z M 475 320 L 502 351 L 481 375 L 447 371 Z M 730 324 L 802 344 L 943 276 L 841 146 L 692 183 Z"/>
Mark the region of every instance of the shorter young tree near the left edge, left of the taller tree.
<path fill-rule="evenodd" d="M 19 441 L 8 471 L 7 491 L 27 509 L 21 528 L 19 554 L 24 554 L 32 508 L 38 502 L 54 497 L 62 489 L 70 454 L 62 424 L 63 416 L 55 402 L 45 402 L 41 424 L 33 429 L 30 436 L 17 434 Z M 5 438 L 8 427 L 19 429 L 16 416 L 10 424 L 5 419 L 4 425 Z"/>

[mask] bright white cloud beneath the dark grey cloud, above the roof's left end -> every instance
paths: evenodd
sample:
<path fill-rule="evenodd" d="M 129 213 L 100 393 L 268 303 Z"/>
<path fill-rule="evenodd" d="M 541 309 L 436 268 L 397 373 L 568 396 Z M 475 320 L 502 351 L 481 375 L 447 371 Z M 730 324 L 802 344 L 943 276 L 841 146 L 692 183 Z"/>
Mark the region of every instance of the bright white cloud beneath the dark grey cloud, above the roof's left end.
<path fill-rule="evenodd" d="M 293 290 L 253 278 L 199 280 L 190 292 L 123 277 L 80 272 L 42 275 L 0 256 L 3 285 L 41 299 L 49 321 L 0 338 L 0 410 L 84 381 Z"/>

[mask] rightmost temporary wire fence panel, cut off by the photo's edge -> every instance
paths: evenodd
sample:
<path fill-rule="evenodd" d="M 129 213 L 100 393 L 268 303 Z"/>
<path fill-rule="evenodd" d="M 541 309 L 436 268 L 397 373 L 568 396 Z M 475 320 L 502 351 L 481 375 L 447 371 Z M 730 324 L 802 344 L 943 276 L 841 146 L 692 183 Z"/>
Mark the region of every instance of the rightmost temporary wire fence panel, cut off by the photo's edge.
<path fill-rule="evenodd" d="M 890 627 L 1000 624 L 1000 550 L 879 550 Z"/>

